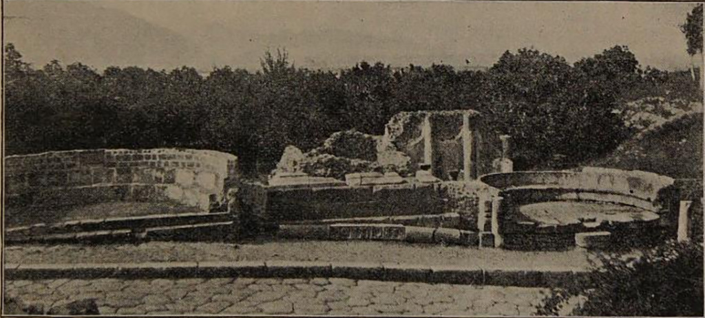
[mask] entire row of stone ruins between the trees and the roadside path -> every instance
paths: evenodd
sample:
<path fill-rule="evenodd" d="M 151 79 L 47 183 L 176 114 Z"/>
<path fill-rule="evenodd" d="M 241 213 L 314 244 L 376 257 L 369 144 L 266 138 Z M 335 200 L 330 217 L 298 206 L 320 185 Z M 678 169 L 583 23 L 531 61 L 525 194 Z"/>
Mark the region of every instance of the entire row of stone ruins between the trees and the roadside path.
<path fill-rule="evenodd" d="M 599 248 L 676 231 L 679 240 L 688 239 L 689 203 L 700 202 L 702 193 L 690 191 L 697 195 L 685 198 L 679 189 L 695 189 L 697 182 L 678 186 L 649 172 L 591 167 L 513 172 L 509 136 L 494 134 L 474 110 L 399 113 L 383 136 L 351 130 L 332 134 L 306 153 L 288 146 L 269 184 L 240 180 L 236 163 L 230 154 L 189 149 L 8 157 L 6 208 L 22 209 L 6 211 L 6 221 L 23 226 L 7 229 L 6 241 L 187 229 L 203 239 L 198 229 L 221 237 L 277 229 L 277 235 L 305 239 Z M 114 201 L 169 202 L 198 211 L 84 215 L 85 220 L 49 224 L 61 213 L 37 209 Z M 223 201 L 227 204 L 214 208 Z M 553 211 L 546 213 L 547 207 Z"/>

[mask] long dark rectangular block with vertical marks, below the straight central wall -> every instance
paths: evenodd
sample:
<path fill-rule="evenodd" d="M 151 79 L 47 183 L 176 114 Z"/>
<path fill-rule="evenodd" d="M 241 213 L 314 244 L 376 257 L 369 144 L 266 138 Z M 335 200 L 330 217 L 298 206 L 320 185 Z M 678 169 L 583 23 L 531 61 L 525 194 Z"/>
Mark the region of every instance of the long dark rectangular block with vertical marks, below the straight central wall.
<path fill-rule="evenodd" d="M 401 241 L 405 237 L 401 224 L 331 224 L 329 237 L 338 240 Z"/>

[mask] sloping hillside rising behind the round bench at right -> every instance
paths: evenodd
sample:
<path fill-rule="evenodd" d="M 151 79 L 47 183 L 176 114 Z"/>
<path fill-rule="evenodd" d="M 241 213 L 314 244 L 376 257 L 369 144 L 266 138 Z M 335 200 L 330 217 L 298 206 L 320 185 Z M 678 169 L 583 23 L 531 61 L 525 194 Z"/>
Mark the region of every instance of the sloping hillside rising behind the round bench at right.
<path fill-rule="evenodd" d="M 645 170 L 674 178 L 703 175 L 703 113 L 687 113 L 625 141 L 588 165 Z"/>

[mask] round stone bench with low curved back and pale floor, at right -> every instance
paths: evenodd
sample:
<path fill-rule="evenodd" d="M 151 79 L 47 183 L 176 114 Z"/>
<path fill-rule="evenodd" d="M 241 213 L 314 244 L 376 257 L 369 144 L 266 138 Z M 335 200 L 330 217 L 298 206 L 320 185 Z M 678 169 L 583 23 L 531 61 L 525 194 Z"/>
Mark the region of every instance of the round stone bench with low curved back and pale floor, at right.
<path fill-rule="evenodd" d="M 498 215 L 501 229 L 496 231 L 513 238 L 507 245 L 531 239 L 575 243 L 573 236 L 585 232 L 639 236 L 654 231 L 674 182 L 651 172 L 599 167 L 487 174 L 481 180 L 498 189 L 503 198 Z M 568 216 L 560 215 L 563 212 Z M 552 215 L 556 222 L 547 221 Z M 561 217 L 570 220 L 558 220 Z"/>

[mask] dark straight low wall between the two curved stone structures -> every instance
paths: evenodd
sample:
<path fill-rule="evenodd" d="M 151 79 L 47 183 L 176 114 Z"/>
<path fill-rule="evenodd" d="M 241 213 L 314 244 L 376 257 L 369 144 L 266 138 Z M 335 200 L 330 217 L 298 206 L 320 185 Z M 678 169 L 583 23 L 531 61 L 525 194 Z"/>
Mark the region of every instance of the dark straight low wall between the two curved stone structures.
<path fill-rule="evenodd" d="M 477 228 L 478 205 L 491 189 L 480 182 L 405 183 L 376 186 L 269 186 L 271 222 L 348 217 L 434 215 L 455 212 L 463 229 Z M 262 201 L 261 201 L 262 202 Z"/>

